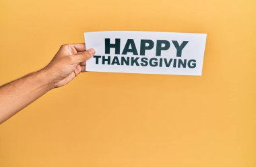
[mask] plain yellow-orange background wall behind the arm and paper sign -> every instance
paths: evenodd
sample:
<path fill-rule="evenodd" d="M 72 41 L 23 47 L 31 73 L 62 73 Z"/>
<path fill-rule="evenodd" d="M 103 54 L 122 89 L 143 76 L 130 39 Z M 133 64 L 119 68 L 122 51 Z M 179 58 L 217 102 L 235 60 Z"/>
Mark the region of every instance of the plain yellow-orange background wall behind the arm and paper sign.
<path fill-rule="evenodd" d="M 256 166 L 256 1 L 0 1 L 0 85 L 84 32 L 206 33 L 203 76 L 86 72 L 0 126 L 0 166 Z"/>

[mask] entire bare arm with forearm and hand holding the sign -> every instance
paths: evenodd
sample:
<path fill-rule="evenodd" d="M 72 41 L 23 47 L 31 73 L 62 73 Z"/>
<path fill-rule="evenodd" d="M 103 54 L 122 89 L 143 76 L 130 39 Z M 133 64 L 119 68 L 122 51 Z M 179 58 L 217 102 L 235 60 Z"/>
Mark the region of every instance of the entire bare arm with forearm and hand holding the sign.
<path fill-rule="evenodd" d="M 86 60 L 95 50 L 85 44 L 65 44 L 44 68 L 0 87 L 0 123 L 44 95 L 86 71 Z"/>

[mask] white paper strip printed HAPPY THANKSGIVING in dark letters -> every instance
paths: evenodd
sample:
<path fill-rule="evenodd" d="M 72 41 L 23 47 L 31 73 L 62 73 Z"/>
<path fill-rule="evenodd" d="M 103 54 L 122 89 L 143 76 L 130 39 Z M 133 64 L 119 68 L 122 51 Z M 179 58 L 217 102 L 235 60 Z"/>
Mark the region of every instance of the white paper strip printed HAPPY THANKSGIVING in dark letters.
<path fill-rule="evenodd" d="M 206 34 L 86 32 L 87 71 L 201 75 Z"/>

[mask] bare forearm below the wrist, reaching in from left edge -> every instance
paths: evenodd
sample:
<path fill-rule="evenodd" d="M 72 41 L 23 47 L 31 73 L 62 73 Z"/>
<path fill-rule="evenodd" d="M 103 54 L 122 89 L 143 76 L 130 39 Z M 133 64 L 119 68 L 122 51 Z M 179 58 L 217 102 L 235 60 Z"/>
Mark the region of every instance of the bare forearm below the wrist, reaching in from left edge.
<path fill-rule="evenodd" d="M 0 87 L 0 123 L 53 89 L 46 70 L 38 70 Z"/>

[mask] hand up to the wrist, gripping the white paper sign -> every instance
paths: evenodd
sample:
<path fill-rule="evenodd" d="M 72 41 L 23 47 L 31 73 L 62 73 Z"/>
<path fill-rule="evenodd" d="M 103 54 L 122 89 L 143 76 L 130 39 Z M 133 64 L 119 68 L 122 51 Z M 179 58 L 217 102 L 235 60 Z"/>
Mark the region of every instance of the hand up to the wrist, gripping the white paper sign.
<path fill-rule="evenodd" d="M 46 79 L 53 88 L 62 87 L 80 72 L 86 71 L 86 60 L 94 54 L 95 50 L 86 50 L 85 44 L 65 44 L 42 70 L 46 72 Z"/>

